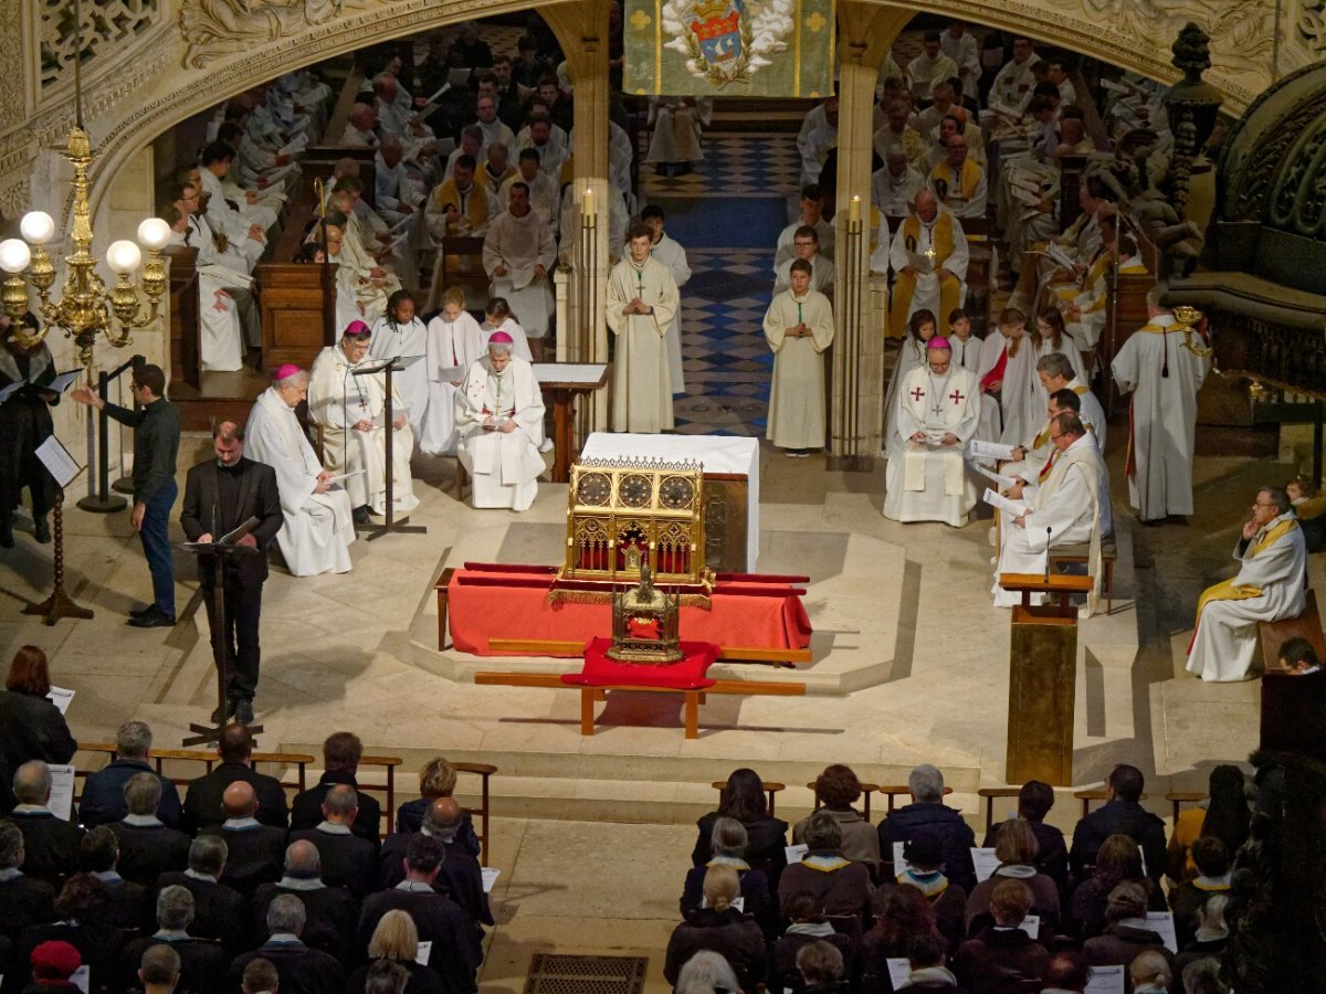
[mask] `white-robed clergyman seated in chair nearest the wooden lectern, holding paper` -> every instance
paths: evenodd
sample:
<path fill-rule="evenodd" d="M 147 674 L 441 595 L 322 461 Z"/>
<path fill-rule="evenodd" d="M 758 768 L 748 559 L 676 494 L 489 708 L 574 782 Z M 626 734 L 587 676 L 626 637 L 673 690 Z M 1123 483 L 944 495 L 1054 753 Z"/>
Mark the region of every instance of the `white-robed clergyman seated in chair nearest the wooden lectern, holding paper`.
<path fill-rule="evenodd" d="M 1045 571 L 1049 550 L 1089 542 L 1087 574 L 1095 587 L 1087 595 L 1087 614 L 1095 610 L 1101 587 L 1101 538 L 1114 529 L 1110 510 L 1110 477 L 1095 439 L 1082 419 L 1061 414 L 1050 421 L 1050 472 L 1038 485 L 1014 485 L 1009 497 L 1026 505 L 1025 514 L 1001 525 L 998 563 L 994 567 L 994 607 L 1013 607 L 1020 594 L 998 584 L 1000 574 Z M 1033 595 L 1038 596 L 1038 595 Z M 1256 641 L 1256 626 L 1253 626 Z"/>

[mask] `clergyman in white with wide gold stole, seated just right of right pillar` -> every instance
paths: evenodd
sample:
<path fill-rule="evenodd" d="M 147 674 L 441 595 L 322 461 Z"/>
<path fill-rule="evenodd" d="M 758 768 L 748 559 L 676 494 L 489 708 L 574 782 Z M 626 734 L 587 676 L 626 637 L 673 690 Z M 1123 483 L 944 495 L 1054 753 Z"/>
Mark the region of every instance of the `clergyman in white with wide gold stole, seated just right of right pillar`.
<path fill-rule="evenodd" d="M 907 319 L 918 310 L 949 314 L 967 293 L 967 236 L 935 195 L 916 195 L 916 211 L 898 225 L 888 262 L 895 273 L 888 309 L 888 334 L 902 338 Z"/>

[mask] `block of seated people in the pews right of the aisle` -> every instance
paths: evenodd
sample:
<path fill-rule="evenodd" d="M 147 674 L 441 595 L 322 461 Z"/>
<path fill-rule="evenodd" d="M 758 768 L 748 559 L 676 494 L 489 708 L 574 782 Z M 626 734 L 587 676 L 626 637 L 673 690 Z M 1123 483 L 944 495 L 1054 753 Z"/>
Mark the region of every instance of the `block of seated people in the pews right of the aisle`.
<path fill-rule="evenodd" d="M 699 822 L 668 979 L 678 982 L 693 953 L 712 950 L 744 990 L 764 982 L 800 994 L 817 989 L 798 975 L 800 950 L 825 941 L 837 953 L 834 979 L 854 991 L 892 991 L 888 961 L 908 957 L 922 989 L 1040 990 L 1054 986 L 1046 967 L 1052 952 L 1065 949 L 1095 967 L 1134 966 L 1146 953 L 1156 970 L 1120 990 L 1181 991 L 1168 985 L 1184 967 L 1228 945 L 1241 911 L 1232 854 L 1252 816 L 1242 773 L 1217 767 L 1208 807 L 1184 812 L 1167 843 L 1163 822 L 1139 803 L 1143 786 L 1135 767 L 1115 767 L 1109 801 L 1078 822 L 1069 844 L 1045 822 L 1053 790 L 1029 782 L 1017 818 L 987 834 L 993 860 L 979 876 L 975 834 L 943 803 L 934 766 L 912 771 L 911 803 L 878 826 L 853 807 L 855 774 L 827 767 L 815 783 L 823 807 L 792 830 L 804 850 L 786 847 L 788 823 L 768 814 L 758 775 L 737 770 L 719 810 Z M 1160 967 L 1162 986 L 1148 986 Z"/>

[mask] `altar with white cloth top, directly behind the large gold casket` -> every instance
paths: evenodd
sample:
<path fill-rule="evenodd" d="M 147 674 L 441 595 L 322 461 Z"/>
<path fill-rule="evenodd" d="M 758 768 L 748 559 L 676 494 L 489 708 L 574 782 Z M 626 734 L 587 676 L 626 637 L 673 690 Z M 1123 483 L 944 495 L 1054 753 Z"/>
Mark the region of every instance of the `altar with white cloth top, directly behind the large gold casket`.
<path fill-rule="evenodd" d="M 594 432 L 582 459 L 693 460 L 704 467 L 705 565 L 753 573 L 760 553 L 760 441 L 728 435 Z"/>

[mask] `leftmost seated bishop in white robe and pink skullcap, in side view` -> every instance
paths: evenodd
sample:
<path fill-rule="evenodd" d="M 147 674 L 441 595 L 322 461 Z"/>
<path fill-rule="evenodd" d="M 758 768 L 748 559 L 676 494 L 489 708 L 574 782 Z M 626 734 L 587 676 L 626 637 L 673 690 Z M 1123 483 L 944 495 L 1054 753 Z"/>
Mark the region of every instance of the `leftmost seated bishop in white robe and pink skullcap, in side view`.
<path fill-rule="evenodd" d="M 350 571 L 354 520 L 350 494 L 333 484 L 294 416 L 309 394 L 309 374 L 286 363 L 259 395 L 244 432 L 244 455 L 276 470 L 285 524 L 276 533 L 296 577 Z"/>

